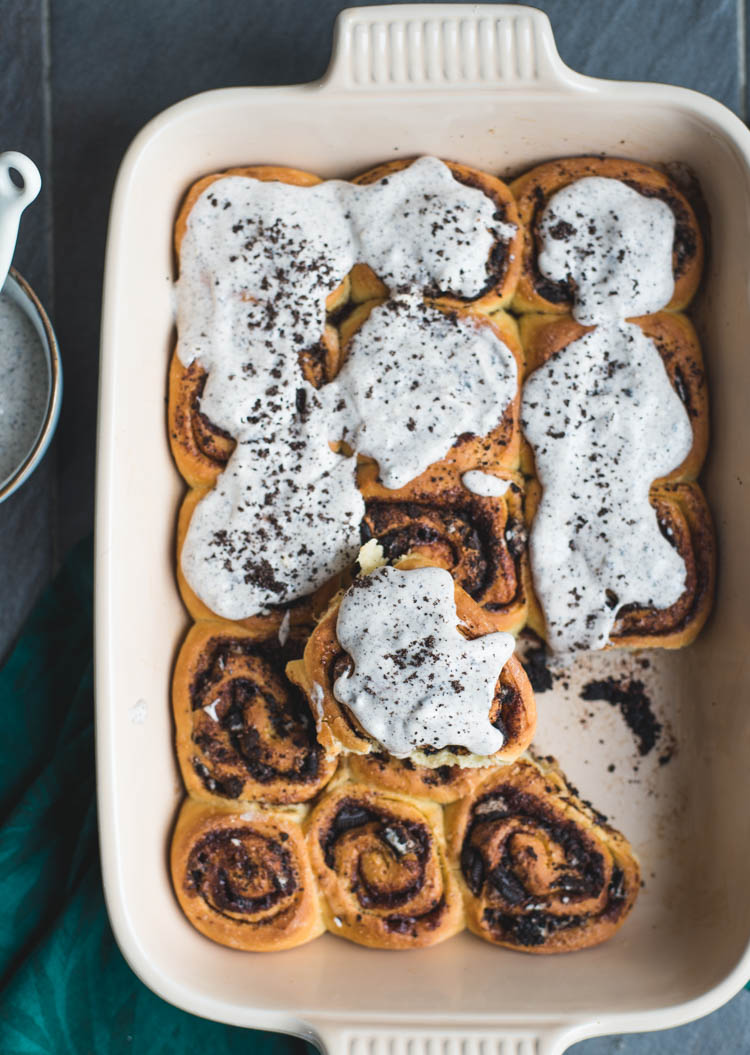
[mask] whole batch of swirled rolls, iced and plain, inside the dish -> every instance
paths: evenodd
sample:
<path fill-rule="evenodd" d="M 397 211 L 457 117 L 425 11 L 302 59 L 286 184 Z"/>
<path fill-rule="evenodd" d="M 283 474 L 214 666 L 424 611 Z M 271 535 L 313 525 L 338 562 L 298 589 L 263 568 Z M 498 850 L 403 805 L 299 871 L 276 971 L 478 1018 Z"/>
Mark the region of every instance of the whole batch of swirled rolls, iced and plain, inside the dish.
<path fill-rule="evenodd" d="M 175 242 L 187 916 L 255 951 L 609 938 L 638 864 L 524 753 L 511 635 L 676 648 L 706 620 L 690 205 L 618 159 L 509 188 L 256 167 L 199 180 Z"/>

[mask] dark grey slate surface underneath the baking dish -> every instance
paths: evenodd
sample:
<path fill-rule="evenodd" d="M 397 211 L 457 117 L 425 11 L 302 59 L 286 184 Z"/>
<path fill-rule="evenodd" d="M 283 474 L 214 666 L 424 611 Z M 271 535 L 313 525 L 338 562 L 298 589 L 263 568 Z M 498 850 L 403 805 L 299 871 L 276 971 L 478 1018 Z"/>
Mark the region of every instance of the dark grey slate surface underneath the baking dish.
<path fill-rule="evenodd" d="M 747 113 L 746 0 L 536 0 L 574 69 L 693 88 Z M 101 272 L 110 194 L 128 143 L 154 114 L 206 89 L 312 80 L 339 0 L 1 0 L 0 149 L 44 179 L 16 265 L 62 349 L 57 440 L 0 505 L 0 657 L 59 555 L 91 531 Z M 696 951 L 697 952 L 697 951 Z M 577 1055 L 750 1053 L 750 996 L 660 1034 L 585 1041 Z"/>

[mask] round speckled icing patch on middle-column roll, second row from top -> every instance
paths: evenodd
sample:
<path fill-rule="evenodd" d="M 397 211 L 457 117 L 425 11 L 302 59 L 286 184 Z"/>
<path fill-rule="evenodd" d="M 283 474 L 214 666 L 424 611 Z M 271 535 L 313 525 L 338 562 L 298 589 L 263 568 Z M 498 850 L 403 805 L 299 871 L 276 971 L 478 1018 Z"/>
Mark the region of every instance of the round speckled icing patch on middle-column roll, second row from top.
<path fill-rule="evenodd" d="M 373 308 L 327 391 L 353 421 L 339 434 L 374 458 L 386 487 L 402 487 L 462 433 L 486 436 L 516 395 L 516 360 L 492 326 L 446 314 L 421 293 Z"/>

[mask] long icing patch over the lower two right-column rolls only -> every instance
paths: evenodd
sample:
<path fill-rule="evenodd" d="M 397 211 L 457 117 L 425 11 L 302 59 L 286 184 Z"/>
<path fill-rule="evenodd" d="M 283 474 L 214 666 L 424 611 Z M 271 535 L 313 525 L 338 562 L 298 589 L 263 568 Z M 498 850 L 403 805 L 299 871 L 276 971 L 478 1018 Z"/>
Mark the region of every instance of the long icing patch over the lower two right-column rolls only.
<path fill-rule="evenodd" d="M 649 486 L 689 453 L 690 420 L 654 342 L 622 322 L 536 370 L 521 421 L 542 484 L 530 549 L 547 638 L 559 652 L 601 648 L 623 605 L 668 608 L 685 589 Z"/>

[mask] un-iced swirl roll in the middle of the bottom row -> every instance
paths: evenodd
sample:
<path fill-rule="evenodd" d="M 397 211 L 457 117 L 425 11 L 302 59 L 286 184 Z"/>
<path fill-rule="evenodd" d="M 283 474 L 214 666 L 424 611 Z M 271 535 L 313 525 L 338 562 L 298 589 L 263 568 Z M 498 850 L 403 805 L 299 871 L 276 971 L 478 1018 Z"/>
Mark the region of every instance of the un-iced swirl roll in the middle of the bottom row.
<path fill-rule="evenodd" d="M 345 784 L 308 821 L 331 934 L 373 948 L 422 948 L 463 927 L 440 807 Z"/>

